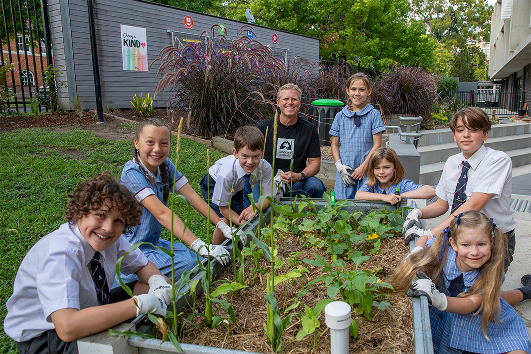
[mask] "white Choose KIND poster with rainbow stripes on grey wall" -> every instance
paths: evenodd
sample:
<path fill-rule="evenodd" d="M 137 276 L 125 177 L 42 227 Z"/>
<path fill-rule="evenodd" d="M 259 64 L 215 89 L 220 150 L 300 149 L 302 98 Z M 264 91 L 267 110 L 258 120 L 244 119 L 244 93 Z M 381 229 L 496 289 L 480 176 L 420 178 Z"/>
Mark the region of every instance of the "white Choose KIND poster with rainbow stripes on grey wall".
<path fill-rule="evenodd" d="M 148 45 L 145 28 L 120 25 L 124 70 L 148 71 Z"/>

